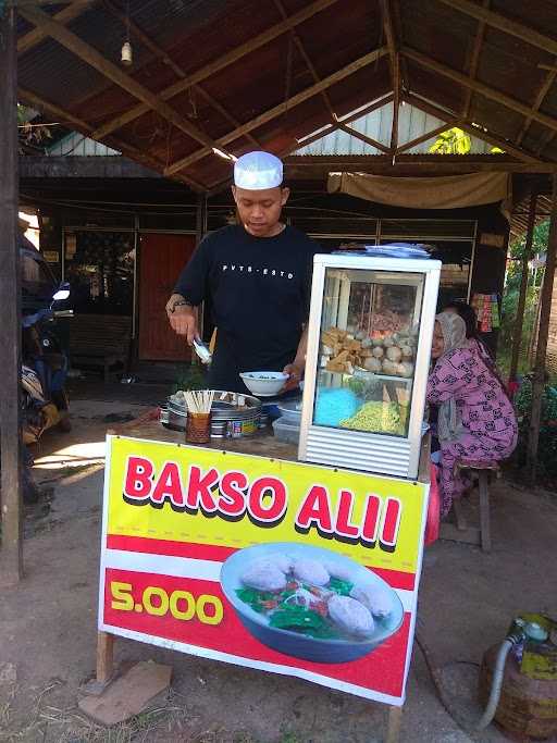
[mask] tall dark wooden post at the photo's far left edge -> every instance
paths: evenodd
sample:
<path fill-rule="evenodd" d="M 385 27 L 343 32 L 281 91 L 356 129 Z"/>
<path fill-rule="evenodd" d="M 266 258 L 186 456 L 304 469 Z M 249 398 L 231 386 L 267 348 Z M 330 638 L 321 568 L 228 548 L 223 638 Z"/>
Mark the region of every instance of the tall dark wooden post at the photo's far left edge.
<path fill-rule="evenodd" d="M 22 437 L 20 416 L 21 295 L 17 231 L 17 61 L 15 8 L 0 5 L 0 585 L 23 575 Z"/>

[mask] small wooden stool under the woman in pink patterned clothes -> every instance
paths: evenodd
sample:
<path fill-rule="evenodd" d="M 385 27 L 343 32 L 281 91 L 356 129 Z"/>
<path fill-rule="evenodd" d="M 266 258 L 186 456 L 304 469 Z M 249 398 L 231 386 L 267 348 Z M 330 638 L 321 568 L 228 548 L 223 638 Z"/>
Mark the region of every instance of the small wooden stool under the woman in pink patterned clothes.
<path fill-rule="evenodd" d="M 496 461 L 473 461 L 472 459 L 459 459 L 455 465 L 455 472 L 468 470 L 471 474 L 478 475 L 480 490 L 480 528 L 469 528 L 462 513 L 462 504 L 459 499 L 453 501 L 453 512 L 455 513 L 456 533 L 451 534 L 451 524 L 442 524 L 441 538 L 454 538 L 457 542 L 468 544 L 479 544 L 485 553 L 491 552 L 492 535 L 490 521 L 490 476 L 495 472 L 500 475 L 499 465 Z"/>

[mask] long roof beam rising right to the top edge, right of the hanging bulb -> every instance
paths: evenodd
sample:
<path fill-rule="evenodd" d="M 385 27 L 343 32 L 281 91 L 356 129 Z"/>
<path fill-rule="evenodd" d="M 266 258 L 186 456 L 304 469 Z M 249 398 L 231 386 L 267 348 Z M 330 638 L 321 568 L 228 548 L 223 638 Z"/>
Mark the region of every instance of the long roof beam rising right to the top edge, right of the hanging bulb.
<path fill-rule="evenodd" d="M 271 26 L 271 28 L 269 28 L 268 30 L 262 32 L 258 36 L 255 36 L 249 41 L 246 41 L 246 44 L 236 47 L 227 54 L 219 57 L 209 64 L 206 64 L 200 70 L 197 70 L 196 72 L 191 73 L 185 79 L 178 81 L 177 83 L 174 83 L 164 90 L 161 90 L 161 92 L 159 94 L 160 98 L 162 98 L 162 100 L 170 100 L 171 98 L 174 98 L 174 96 L 177 96 L 180 92 L 187 90 L 187 88 L 189 88 L 191 85 L 201 83 L 211 75 L 214 75 L 221 70 L 224 70 L 224 67 L 227 67 L 234 62 L 237 62 L 246 54 L 256 51 L 256 49 L 263 47 L 265 44 L 269 44 L 278 36 L 282 36 L 282 34 L 286 33 L 287 30 L 290 30 L 290 28 L 299 25 L 300 23 L 304 23 L 305 21 L 308 21 L 313 15 L 324 10 L 325 8 L 329 8 L 335 2 L 338 2 L 338 0 L 315 0 L 315 2 L 312 2 L 307 8 L 304 8 L 298 13 L 292 15 L 288 18 L 288 21 L 281 21 L 281 23 Z M 106 137 L 107 134 L 110 134 L 115 129 L 122 128 L 122 126 L 125 126 L 126 124 L 129 124 L 129 122 L 135 121 L 144 113 L 147 113 L 147 111 L 149 111 L 149 107 L 145 103 L 135 106 L 134 108 L 129 109 L 120 116 L 116 116 L 115 119 L 112 119 L 111 121 L 100 126 L 95 132 L 95 137 L 97 139 L 102 139 L 102 137 Z"/>

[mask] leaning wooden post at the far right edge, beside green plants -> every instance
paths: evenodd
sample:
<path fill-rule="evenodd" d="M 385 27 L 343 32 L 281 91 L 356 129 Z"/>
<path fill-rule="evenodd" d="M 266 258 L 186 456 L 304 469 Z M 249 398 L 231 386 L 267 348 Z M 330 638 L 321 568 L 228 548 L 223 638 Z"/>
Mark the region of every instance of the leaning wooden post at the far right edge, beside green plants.
<path fill-rule="evenodd" d="M 535 482 L 537 474 L 537 445 L 540 442 L 540 421 L 542 417 L 542 397 L 545 385 L 545 358 L 549 335 L 549 318 L 552 314 L 553 283 L 557 263 L 557 173 L 552 178 L 552 216 L 549 222 L 549 239 L 545 259 L 545 275 L 540 295 L 540 329 L 537 331 L 537 348 L 535 351 L 534 381 L 532 385 L 532 412 L 528 439 L 528 470 L 530 481 Z"/>

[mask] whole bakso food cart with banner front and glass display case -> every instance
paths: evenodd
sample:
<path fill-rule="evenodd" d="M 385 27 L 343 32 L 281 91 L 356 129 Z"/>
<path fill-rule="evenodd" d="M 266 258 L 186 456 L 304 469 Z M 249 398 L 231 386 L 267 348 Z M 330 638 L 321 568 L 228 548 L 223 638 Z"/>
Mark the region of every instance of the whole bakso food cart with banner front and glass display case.
<path fill-rule="evenodd" d="M 428 506 L 438 275 L 429 260 L 315 258 L 299 448 L 269 428 L 224 441 L 213 429 L 209 445 L 190 446 L 156 417 L 109 435 L 101 685 L 124 636 L 386 704 L 396 740 Z M 395 363 L 397 344 L 407 350 L 393 373 L 369 369 L 374 348 Z M 341 401 L 322 408 L 323 392 Z"/>

